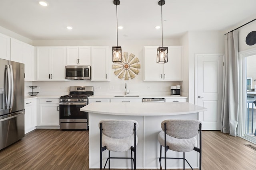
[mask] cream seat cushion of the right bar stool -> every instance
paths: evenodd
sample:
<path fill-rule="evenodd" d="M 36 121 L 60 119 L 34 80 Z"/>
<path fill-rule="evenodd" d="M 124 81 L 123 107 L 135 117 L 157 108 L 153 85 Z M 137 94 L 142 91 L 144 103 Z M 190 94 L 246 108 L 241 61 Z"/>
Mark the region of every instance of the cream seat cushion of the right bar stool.
<path fill-rule="evenodd" d="M 164 131 L 158 134 L 158 141 L 164 147 Z M 179 139 L 166 134 L 166 145 L 170 150 L 176 152 L 190 152 L 197 146 L 196 137 L 190 139 Z"/>

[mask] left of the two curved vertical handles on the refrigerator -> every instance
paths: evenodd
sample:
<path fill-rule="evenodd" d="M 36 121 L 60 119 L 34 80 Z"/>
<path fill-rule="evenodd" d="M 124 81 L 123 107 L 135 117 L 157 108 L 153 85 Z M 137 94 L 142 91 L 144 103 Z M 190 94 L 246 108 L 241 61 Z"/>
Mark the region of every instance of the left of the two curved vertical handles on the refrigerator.
<path fill-rule="evenodd" d="M 10 88 L 10 65 L 5 66 L 5 101 L 6 101 L 6 109 L 10 109 L 10 95 L 11 95 L 11 88 Z"/>

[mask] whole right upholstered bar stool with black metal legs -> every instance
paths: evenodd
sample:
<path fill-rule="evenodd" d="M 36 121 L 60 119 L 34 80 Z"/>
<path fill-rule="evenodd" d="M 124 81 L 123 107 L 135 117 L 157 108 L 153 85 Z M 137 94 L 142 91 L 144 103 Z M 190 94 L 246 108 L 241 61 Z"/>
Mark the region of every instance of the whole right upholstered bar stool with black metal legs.
<path fill-rule="evenodd" d="M 202 123 L 198 120 L 164 120 L 161 123 L 161 131 L 158 134 L 160 143 L 160 169 L 162 169 L 162 159 L 164 158 L 164 169 L 166 170 L 166 159 L 183 159 L 183 169 L 185 170 L 185 152 L 195 150 L 199 152 L 199 169 L 201 170 L 202 162 L 202 144 L 201 144 L 201 129 Z M 199 147 L 197 147 L 197 137 L 199 134 Z M 162 157 L 162 146 L 164 147 L 164 157 Z M 168 150 L 183 152 L 183 158 L 167 158 Z M 186 160 L 188 163 L 188 161 Z M 192 166 L 188 163 L 190 168 Z"/>

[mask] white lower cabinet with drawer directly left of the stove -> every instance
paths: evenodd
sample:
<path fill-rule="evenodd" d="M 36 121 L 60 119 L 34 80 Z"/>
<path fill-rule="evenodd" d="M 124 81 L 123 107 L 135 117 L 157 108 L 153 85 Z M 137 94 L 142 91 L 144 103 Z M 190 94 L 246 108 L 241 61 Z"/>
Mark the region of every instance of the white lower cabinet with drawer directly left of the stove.
<path fill-rule="evenodd" d="M 40 99 L 38 125 L 60 125 L 59 99 Z"/>

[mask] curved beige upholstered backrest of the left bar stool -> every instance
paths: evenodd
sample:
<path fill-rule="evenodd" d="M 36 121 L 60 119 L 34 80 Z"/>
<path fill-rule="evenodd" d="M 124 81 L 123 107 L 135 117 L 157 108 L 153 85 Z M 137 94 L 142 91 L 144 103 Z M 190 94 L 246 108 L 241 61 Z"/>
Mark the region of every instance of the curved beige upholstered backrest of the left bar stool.
<path fill-rule="evenodd" d="M 106 119 L 99 122 L 99 128 L 100 123 L 102 123 L 102 133 L 114 139 L 123 139 L 133 135 L 134 123 L 136 123 L 136 131 L 138 129 L 138 122 L 134 120 Z"/>

